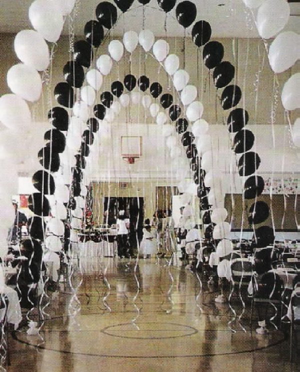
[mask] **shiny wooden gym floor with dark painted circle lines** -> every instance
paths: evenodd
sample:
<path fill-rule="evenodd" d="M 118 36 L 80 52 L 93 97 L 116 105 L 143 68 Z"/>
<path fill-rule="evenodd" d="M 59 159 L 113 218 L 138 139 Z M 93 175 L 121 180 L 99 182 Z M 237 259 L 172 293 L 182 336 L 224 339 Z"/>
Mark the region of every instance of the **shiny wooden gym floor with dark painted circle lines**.
<path fill-rule="evenodd" d="M 249 328 L 249 305 L 180 263 L 89 257 L 51 292 L 39 335 L 9 335 L 8 371 L 295 371 L 287 334 Z M 29 313 L 29 318 L 34 314 Z"/>

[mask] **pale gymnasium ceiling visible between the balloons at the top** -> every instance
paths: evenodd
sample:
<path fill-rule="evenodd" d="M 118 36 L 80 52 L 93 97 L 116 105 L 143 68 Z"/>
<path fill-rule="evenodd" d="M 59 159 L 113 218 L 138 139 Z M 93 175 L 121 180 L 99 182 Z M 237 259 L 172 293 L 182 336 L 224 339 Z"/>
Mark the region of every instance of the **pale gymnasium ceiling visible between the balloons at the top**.
<path fill-rule="evenodd" d="M 113 3 L 113 0 L 106 0 Z M 32 0 L 1 0 L 0 32 L 16 33 L 24 28 L 31 28 L 28 20 L 28 7 Z M 73 26 L 75 34 L 81 34 L 84 24 L 95 19 L 95 8 L 99 0 L 77 0 Z M 177 1 L 179 2 L 179 0 Z M 211 24 L 213 37 L 257 37 L 252 16 L 246 10 L 242 0 L 194 0 L 197 6 L 196 20 L 205 19 Z M 290 3 L 291 16 L 285 30 L 298 32 L 300 29 L 300 3 Z M 113 29 L 113 35 L 121 35 L 124 30 L 139 31 L 143 22 L 143 7 L 134 0 L 131 8 L 124 14 L 118 10 L 119 21 Z M 150 0 L 145 6 L 145 28 L 151 28 L 155 36 L 165 35 L 165 13 L 159 8 L 156 0 Z M 68 33 L 67 24 L 64 33 Z M 175 19 L 175 10 L 167 15 L 166 30 L 168 36 L 183 36 L 183 27 Z M 190 34 L 191 27 L 187 28 Z"/>

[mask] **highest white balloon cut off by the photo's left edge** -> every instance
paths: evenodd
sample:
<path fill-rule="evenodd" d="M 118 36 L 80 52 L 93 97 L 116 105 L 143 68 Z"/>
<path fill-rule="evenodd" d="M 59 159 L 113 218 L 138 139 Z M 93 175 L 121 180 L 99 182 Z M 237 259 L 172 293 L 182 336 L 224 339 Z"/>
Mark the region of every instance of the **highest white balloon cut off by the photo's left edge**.
<path fill-rule="evenodd" d="M 29 127 L 31 113 L 27 103 L 18 95 L 3 94 L 0 97 L 0 121 L 10 129 Z"/>

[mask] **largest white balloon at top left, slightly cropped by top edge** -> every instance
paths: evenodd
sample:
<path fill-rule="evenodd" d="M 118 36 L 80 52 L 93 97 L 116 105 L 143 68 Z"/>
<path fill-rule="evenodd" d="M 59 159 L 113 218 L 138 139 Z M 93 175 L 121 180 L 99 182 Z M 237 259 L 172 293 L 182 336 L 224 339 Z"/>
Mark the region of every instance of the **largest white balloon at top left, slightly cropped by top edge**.
<path fill-rule="evenodd" d="M 44 39 L 56 42 L 63 26 L 63 17 L 59 6 L 53 1 L 35 0 L 28 10 L 29 20 L 32 27 L 38 31 Z"/>

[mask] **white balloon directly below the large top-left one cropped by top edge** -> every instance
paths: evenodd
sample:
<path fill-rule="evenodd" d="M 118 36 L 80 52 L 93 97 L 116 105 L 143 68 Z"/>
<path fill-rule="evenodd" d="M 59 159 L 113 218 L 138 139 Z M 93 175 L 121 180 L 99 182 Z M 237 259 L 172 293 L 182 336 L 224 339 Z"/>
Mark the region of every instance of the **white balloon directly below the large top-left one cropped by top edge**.
<path fill-rule="evenodd" d="M 47 43 L 32 29 L 23 29 L 16 34 L 14 51 L 19 60 L 38 71 L 45 70 L 50 63 Z"/>

